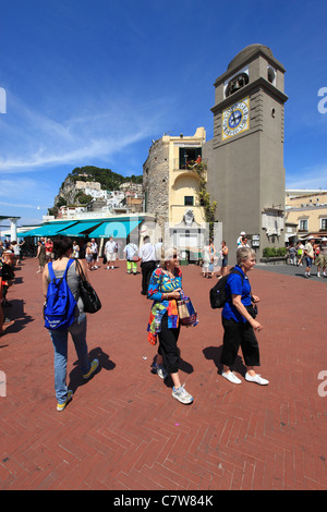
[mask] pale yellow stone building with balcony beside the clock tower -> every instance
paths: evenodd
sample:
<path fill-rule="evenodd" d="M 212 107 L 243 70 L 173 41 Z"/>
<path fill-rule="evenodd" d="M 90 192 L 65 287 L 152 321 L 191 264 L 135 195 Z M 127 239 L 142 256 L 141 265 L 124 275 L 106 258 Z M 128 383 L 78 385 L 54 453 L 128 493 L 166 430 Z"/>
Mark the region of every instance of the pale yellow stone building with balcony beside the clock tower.
<path fill-rule="evenodd" d="M 162 237 L 169 230 L 174 244 L 194 251 L 203 245 L 199 234 L 205 230 L 195 170 L 205 142 L 204 127 L 192 136 L 165 134 L 153 141 L 143 166 L 144 211 L 156 216 Z"/>

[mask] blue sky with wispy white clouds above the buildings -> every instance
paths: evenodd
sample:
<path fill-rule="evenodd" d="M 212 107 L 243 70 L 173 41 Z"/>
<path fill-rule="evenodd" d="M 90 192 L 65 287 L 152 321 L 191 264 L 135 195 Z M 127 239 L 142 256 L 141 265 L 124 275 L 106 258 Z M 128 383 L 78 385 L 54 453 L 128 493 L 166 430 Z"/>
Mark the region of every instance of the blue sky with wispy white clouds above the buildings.
<path fill-rule="evenodd" d="M 41 221 L 76 167 L 142 174 L 164 132 L 209 141 L 213 84 L 253 42 L 287 70 L 287 186 L 327 188 L 326 20 L 326 0 L 1 0 L 0 215 Z"/>

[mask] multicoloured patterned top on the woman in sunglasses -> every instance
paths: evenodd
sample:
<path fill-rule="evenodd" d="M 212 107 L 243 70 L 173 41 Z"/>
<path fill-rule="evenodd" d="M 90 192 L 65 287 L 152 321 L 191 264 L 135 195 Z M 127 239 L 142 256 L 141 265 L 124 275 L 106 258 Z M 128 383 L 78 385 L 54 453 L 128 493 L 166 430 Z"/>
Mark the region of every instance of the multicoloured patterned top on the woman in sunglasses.
<path fill-rule="evenodd" d="M 155 316 L 157 312 L 159 312 L 161 318 L 167 312 L 169 328 L 177 328 L 179 326 L 177 301 L 174 298 L 164 300 L 166 293 L 173 292 L 178 288 L 182 288 L 182 272 L 178 267 L 174 269 L 173 278 L 166 273 L 162 268 L 154 270 L 147 292 L 147 297 L 154 301 L 147 326 L 147 339 L 153 345 L 157 342 L 157 334 L 155 333 Z"/>

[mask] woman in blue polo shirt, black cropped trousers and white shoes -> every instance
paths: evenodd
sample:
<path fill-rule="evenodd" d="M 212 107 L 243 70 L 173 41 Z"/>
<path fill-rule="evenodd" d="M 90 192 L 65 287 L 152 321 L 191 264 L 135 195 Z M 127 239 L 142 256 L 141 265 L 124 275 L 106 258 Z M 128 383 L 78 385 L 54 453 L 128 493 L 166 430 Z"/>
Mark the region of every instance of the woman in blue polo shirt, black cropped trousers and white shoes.
<path fill-rule="evenodd" d="M 252 302 L 259 298 L 251 294 L 247 279 L 255 265 L 255 252 L 250 247 L 240 247 L 237 252 L 238 265 L 227 280 L 228 301 L 222 309 L 223 345 L 220 363 L 223 365 L 222 377 L 233 383 L 241 383 L 230 367 L 234 364 L 240 345 L 242 349 L 247 371 L 245 380 L 261 386 L 268 385 L 268 380 L 255 373 L 254 366 L 259 366 L 259 350 L 255 332 L 263 326 L 254 319 Z"/>

